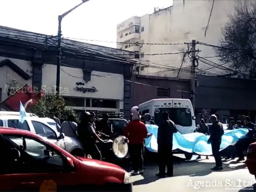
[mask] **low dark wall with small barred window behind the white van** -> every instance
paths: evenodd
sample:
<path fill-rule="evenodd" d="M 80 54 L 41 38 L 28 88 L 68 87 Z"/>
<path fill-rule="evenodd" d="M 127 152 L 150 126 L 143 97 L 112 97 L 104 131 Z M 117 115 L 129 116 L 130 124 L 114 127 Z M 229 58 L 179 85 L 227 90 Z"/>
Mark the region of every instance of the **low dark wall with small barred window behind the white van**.
<path fill-rule="evenodd" d="M 133 75 L 131 94 L 133 106 L 161 98 L 191 98 L 190 82 L 168 77 Z"/>

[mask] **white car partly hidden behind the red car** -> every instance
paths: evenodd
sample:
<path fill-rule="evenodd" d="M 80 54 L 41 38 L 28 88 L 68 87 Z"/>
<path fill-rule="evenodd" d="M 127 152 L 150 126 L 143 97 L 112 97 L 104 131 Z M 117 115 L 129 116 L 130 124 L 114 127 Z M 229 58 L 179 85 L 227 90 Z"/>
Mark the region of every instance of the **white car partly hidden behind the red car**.
<path fill-rule="evenodd" d="M 25 118 L 23 123 L 20 123 L 19 119 L 20 117 L 18 115 L 0 115 L 0 127 L 18 128 L 31 131 L 32 133 L 43 136 L 52 143 L 59 145 L 59 147 L 68 151 L 72 155 L 84 155 L 80 142 L 77 139 L 66 137 L 64 133 L 59 133 L 53 119 L 34 116 L 31 117 L 30 115 Z"/>

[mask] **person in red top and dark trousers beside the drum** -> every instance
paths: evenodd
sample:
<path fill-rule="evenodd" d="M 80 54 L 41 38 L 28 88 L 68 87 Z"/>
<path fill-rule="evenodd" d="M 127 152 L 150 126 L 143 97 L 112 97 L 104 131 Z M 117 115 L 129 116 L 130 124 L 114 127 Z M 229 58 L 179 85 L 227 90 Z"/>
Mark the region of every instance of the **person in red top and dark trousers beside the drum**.
<path fill-rule="evenodd" d="M 132 108 L 133 120 L 124 128 L 124 136 L 128 138 L 129 152 L 133 166 L 131 175 L 144 174 L 143 171 L 143 147 L 144 139 L 149 137 L 148 129 L 144 123 L 139 120 L 139 107 Z"/>

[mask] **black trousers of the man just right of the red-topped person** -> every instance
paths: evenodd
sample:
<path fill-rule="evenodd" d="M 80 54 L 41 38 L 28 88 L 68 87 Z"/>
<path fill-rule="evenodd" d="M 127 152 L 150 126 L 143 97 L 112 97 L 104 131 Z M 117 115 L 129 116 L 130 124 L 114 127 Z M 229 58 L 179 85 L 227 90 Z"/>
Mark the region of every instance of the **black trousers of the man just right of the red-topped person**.
<path fill-rule="evenodd" d="M 167 167 L 167 173 L 173 175 L 172 144 L 158 144 L 157 154 L 159 173 L 165 174 L 165 167 Z"/>

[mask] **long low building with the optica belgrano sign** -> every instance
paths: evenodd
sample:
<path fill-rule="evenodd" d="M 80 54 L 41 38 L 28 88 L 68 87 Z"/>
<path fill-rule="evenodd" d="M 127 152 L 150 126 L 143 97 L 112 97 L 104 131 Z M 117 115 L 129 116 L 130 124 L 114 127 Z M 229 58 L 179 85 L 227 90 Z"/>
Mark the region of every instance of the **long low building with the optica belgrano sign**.
<path fill-rule="evenodd" d="M 30 84 L 46 94 L 55 91 L 55 41 L 43 34 L 0 27 L 0 100 L 8 96 L 13 84 Z M 66 39 L 62 43 L 60 94 L 66 106 L 128 116 L 132 102 L 126 80 L 131 78 L 134 56 L 128 51 Z"/>

